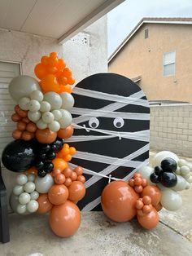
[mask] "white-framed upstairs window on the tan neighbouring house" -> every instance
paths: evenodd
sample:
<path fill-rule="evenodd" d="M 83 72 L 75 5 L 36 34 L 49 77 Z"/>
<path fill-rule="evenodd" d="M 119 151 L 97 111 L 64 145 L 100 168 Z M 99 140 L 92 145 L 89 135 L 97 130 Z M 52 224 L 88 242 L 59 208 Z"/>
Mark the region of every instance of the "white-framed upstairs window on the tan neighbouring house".
<path fill-rule="evenodd" d="M 176 52 L 166 52 L 164 53 L 164 77 L 175 75 L 175 62 L 176 62 Z"/>

